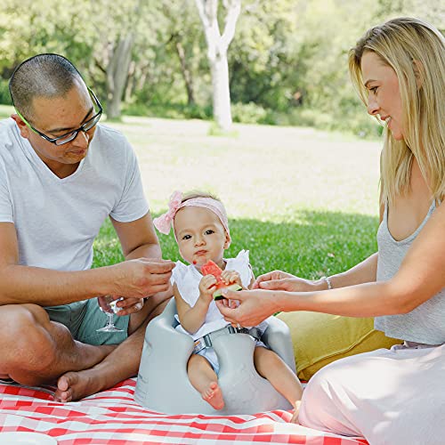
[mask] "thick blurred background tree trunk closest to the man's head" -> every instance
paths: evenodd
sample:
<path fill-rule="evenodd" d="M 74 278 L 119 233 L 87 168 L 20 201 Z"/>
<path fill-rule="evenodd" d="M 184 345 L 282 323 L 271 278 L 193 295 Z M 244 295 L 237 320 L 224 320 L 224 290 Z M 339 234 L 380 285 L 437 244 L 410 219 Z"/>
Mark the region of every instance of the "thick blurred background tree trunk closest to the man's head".
<path fill-rule="evenodd" d="M 133 43 L 132 32 L 120 37 L 107 67 L 107 89 L 109 92 L 107 117 L 109 119 L 120 117 L 120 106 L 132 58 Z"/>

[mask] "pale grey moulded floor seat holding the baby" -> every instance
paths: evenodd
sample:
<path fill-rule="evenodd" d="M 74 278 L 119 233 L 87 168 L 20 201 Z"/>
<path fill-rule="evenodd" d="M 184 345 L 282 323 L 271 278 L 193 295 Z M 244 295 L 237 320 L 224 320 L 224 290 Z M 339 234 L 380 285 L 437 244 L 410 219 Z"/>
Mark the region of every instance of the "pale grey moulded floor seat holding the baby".
<path fill-rule="evenodd" d="M 172 299 L 166 310 L 152 320 L 145 333 L 142 360 L 134 399 L 142 406 L 166 414 L 255 414 L 273 409 L 292 409 L 287 400 L 254 367 L 255 342 L 247 334 L 224 334 L 214 340 L 220 361 L 218 381 L 225 407 L 213 409 L 203 401 L 187 376 L 187 361 L 194 342 L 178 332 Z M 262 340 L 295 371 L 295 358 L 287 325 L 275 318 Z"/>

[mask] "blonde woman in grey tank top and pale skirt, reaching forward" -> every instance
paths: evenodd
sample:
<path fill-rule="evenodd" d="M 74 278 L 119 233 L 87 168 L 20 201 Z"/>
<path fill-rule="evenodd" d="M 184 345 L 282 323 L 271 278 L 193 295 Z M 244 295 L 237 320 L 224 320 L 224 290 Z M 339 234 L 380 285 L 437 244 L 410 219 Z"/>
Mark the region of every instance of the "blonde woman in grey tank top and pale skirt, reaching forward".
<path fill-rule="evenodd" d="M 401 18 L 352 49 L 352 82 L 386 123 L 378 252 L 318 281 L 281 271 L 227 292 L 226 320 L 253 326 L 274 312 L 376 317 L 402 345 L 321 369 L 303 392 L 302 425 L 370 444 L 439 444 L 445 437 L 445 46 L 441 33 Z"/>

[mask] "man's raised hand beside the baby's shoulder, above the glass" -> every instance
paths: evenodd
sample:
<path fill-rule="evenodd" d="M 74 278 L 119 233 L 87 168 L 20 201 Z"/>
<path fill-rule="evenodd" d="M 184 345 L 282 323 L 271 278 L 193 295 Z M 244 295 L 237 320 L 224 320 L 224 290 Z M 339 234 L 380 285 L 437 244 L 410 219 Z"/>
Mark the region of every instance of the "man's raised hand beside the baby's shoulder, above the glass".
<path fill-rule="evenodd" d="M 174 262 L 138 258 L 109 266 L 114 272 L 111 295 L 140 300 L 164 292 L 170 286 Z M 133 300 L 133 304 L 134 300 Z M 131 305 L 131 304 L 130 304 Z M 120 304 L 118 304 L 120 306 Z M 126 307 L 126 303 L 125 303 Z"/>

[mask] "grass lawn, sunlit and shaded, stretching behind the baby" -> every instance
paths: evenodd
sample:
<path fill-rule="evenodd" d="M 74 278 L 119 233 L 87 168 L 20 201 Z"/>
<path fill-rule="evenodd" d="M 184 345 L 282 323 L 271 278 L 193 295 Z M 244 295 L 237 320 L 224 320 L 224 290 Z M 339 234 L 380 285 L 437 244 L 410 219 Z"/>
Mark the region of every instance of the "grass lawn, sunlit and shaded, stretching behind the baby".
<path fill-rule="evenodd" d="M 255 275 L 281 269 L 316 278 L 376 251 L 381 142 L 266 125 L 209 136 L 211 124 L 198 120 L 125 117 L 109 125 L 136 150 L 151 213 L 165 211 L 174 190 L 214 192 L 231 220 L 227 255 L 249 249 Z M 159 239 L 164 257 L 179 259 L 173 235 Z M 96 267 L 122 260 L 108 222 L 94 247 Z"/>

